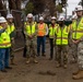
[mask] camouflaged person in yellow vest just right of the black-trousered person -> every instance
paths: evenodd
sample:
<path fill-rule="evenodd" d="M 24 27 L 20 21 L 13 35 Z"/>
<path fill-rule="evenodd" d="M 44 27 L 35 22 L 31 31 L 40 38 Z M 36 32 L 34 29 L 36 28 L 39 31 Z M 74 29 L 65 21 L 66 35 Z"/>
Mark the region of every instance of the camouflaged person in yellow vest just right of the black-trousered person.
<path fill-rule="evenodd" d="M 57 46 L 57 68 L 61 67 L 61 52 L 63 56 L 63 68 L 68 63 L 68 50 L 70 28 L 64 25 L 64 16 L 60 15 L 58 20 L 59 26 L 56 27 L 56 46 Z"/>

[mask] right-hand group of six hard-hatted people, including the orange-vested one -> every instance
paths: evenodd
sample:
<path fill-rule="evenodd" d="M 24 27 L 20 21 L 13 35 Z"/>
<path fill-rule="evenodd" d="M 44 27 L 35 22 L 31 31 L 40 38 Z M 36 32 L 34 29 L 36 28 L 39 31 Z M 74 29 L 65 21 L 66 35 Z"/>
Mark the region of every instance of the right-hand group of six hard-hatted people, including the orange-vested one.
<path fill-rule="evenodd" d="M 44 23 L 44 17 L 39 17 L 39 22 L 33 22 L 33 14 L 27 14 L 27 22 L 25 22 L 24 34 L 26 38 L 27 47 L 27 61 L 31 62 L 31 58 L 34 59 L 34 62 L 37 63 L 36 56 L 40 56 L 40 46 L 42 46 L 42 56 L 46 57 L 45 54 L 45 42 L 46 35 L 49 34 L 49 44 L 50 44 L 50 58 L 54 58 L 54 47 L 56 51 L 56 61 L 57 68 L 63 67 L 67 68 L 68 65 L 68 46 L 72 48 L 72 62 L 79 63 L 79 71 L 73 73 L 73 79 L 83 78 L 83 9 L 81 5 L 75 8 L 75 13 L 72 15 L 72 24 L 67 26 L 64 24 L 64 16 L 60 15 L 57 20 L 55 16 L 51 16 L 51 24 L 49 26 Z M 58 21 L 58 23 L 57 23 Z M 36 52 L 37 45 L 37 52 Z M 32 54 L 33 52 L 33 54 Z M 62 62 L 62 57 L 63 62 Z"/>

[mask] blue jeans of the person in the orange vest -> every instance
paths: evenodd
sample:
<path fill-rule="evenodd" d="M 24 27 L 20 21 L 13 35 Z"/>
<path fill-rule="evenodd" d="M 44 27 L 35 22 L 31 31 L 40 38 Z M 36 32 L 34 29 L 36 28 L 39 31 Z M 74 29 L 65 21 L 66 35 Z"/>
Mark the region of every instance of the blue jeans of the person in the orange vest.
<path fill-rule="evenodd" d="M 46 43 L 46 36 L 37 36 L 37 54 L 40 52 L 40 46 L 42 46 L 42 54 L 45 54 L 45 43 Z"/>

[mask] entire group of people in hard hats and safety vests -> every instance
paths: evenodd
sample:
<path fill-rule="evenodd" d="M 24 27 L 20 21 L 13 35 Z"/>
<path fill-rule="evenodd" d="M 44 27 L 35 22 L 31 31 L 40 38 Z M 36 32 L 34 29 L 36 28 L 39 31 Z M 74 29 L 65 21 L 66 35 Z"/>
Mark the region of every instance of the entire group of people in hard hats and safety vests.
<path fill-rule="evenodd" d="M 38 63 L 36 57 L 40 55 L 46 57 L 46 35 L 49 34 L 49 60 L 52 60 L 55 49 L 57 68 L 63 67 L 66 69 L 68 65 L 68 46 L 71 46 L 72 60 L 79 65 L 79 71 L 73 73 L 73 79 L 83 79 L 83 9 L 81 5 L 76 7 L 75 13 L 76 15 L 72 16 L 72 24 L 69 26 L 64 24 L 63 15 L 60 15 L 58 20 L 51 16 L 51 24 L 48 26 L 44 22 L 43 16 L 39 17 L 39 22 L 37 23 L 33 21 L 32 13 L 27 14 L 27 21 L 24 22 L 23 28 L 27 58 L 26 63 L 29 63 L 32 59 L 35 63 Z M 15 27 L 12 23 L 12 14 L 9 15 L 7 15 L 8 22 L 3 16 L 0 17 L 0 70 L 2 72 L 7 72 L 5 69 L 12 69 L 9 67 L 9 55 L 11 55 L 11 63 L 14 63 L 13 46 Z M 63 57 L 63 62 L 61 56 Z"/>

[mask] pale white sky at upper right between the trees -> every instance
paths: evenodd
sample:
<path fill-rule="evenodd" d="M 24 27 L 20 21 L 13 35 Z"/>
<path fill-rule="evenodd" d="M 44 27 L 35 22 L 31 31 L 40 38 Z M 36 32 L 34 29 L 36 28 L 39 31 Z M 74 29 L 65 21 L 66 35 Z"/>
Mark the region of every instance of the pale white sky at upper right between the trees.
<path fill-rule="evenodd" d="M 68 15 L 72 14 L 72 11 L 81 0 L 68 0 Z"/>

